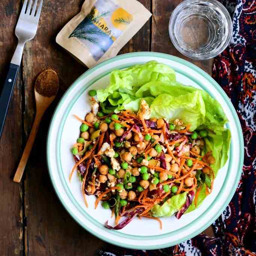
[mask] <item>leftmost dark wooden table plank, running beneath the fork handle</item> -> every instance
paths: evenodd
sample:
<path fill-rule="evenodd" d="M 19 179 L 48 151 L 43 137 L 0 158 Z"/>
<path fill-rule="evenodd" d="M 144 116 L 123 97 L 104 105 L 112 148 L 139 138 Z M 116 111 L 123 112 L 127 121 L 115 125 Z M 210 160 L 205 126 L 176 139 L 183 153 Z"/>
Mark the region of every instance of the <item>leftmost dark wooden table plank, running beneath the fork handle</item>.
<path fill-rule="evenodd" d="M 17 39 L 14 35 L 19 5 L 16 0 L 0 4 L 0 90 Z M 22 82 L 19 73 L 0 139 L 0 255 L 22 255 L 22 186 L 12 175 L 22 154 Z"/>

